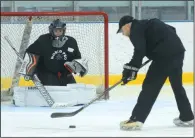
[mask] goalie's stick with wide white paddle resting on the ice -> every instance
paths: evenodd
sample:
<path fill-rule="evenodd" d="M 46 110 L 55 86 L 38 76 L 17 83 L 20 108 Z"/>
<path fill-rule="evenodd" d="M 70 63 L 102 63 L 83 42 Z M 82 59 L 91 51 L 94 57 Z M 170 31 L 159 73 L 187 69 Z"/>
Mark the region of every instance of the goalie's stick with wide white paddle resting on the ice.
<path fill-rule="evenodd" d="M 23 58 L 16 51 L 16 49 L 14 48 L 12 42 L 9 40 L 8 36 L 4 36 L 4 38 L 8 42 L 9 46 L 17 54 L 18 58 L 21 61 L 23 61 Z M 37 87 L 37 89 L 39 90 L 39 92 L 41 93 L 41 95 L 43 96 L 43 98 L 45 99 L 45 101 L 48 103 L 48 105 L 50 107 L 56 108 L 56 107 L 68 107 L 68 106 L 72 106 L 72 104 L 55 103 L 54 100 L 53 100 L 53 98 L 50 96 L 50 94 L 48 93 L 48 91 L 46 90 L 46 88 L 44 87 L 44 85 L 41 83 L 41 81 L 39 80 L 39 78 L 38 78 L 38 76 L 36 74 L 34 74 L 32 81 L 33 81 L 33 83 L 35 84 L 35 86 Z"/>

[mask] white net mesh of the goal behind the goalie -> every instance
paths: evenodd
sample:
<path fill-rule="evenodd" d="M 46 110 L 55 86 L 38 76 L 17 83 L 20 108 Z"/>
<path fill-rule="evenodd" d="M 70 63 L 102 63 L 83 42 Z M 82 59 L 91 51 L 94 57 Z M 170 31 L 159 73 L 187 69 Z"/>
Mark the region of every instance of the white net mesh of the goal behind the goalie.
<path fill-rule="evenodd" d="M 8 36 L 18 52 L 21 51 L 22 36 L 28 19 L 29 16 L 1 15 L 1 91 L 10 89 L 17 63 L 17 55 L 4 36 Z M 29 44 L 32 44 L 40 35 L 48 33 L 48 26 L 54 19 L 66 22 L 66 35 L 77 40 L 82 57 L 89 60 L 88 75 L 84 78 L 76 77 L 77 82 L 104 86 L 106 76 L 104 16 L 32 16 L 33 25 Z M 31 84 L 20 79 L 19 85 Z"/>

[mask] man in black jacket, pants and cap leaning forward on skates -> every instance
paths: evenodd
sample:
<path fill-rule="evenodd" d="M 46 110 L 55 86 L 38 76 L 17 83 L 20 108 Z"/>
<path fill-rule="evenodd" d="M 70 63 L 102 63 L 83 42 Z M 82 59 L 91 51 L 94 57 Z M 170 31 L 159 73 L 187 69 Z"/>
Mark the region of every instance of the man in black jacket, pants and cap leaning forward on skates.
<path fill-rule="evenodd" d="M 185 48 L 176 29 L 156 18 L 136 20 L 131 16 L 123 16 L 119 21 L 119 32 L 129 37 L 134 46 L 131 61 L 123 66 L 123 84 L 136 79 L 145 56 L 152 60 L 132 115 L 129 120 L 120 123 L 120 128 L 142 128 L 167 77 L 180 112 L 173 122 L 177 126 L 192 127 L 194 115 L 182 84 Z"/>

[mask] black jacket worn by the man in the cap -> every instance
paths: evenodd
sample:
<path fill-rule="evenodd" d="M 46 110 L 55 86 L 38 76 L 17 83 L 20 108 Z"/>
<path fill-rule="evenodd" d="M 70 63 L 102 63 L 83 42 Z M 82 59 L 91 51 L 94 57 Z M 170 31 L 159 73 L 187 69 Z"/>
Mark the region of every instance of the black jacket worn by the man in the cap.
<path fill-rule="evenodd" d="M 176 29 L 156 18 L 133 20 L 129 38 L 134 46 L 130 65 L 138 68 L 145 56 L 152 60 L 171 59 L 185 51 Z"/>

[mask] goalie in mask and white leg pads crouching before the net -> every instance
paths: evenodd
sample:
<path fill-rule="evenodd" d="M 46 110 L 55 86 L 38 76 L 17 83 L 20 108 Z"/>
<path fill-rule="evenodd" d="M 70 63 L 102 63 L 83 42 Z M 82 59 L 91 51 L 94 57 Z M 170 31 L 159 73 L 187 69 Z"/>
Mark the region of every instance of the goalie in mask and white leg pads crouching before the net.
<path fill-rule="evenodd" d="M 77 84 L 73 76 L 84 77 L 88 72 L 88 61 L 81 58 L 77 41 L 65 32 L 66 24 L 59 19 L 54 20 L 49 33 L 41 35 L 26 49 L 19 73 L 26 81 L 32 80 L 36 73 L 55 102 L 78 103 L 83 97 L 92 99 L 94 87 Z M 90 90 L 92 92 L 87 94 Z M 15 105 L 47 106 L 35 87 L 16 87 L 14 102 Z"/>

